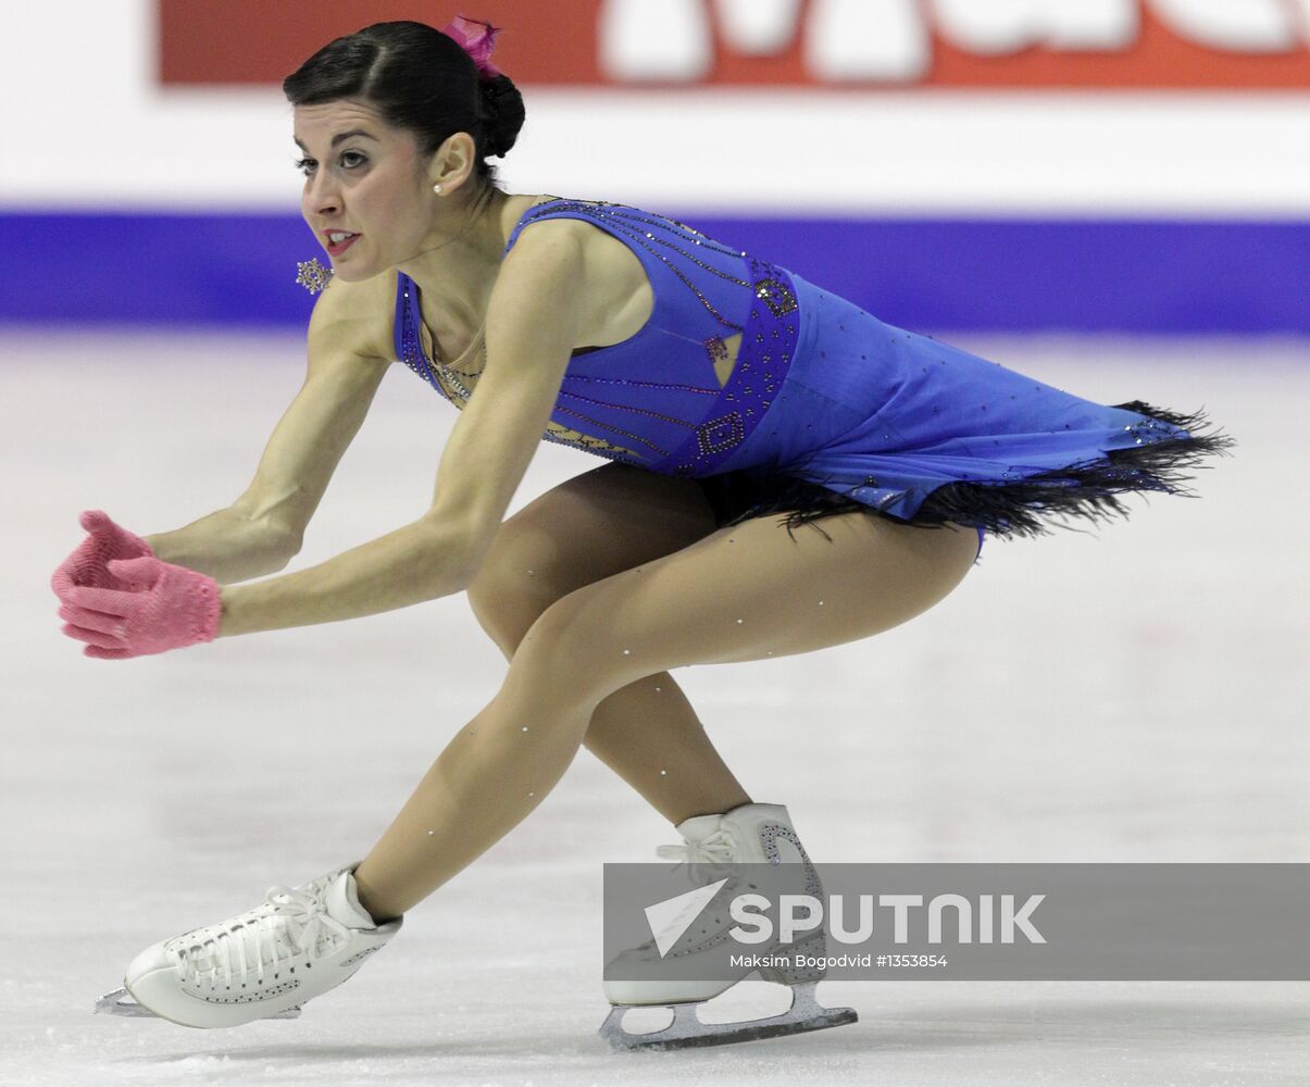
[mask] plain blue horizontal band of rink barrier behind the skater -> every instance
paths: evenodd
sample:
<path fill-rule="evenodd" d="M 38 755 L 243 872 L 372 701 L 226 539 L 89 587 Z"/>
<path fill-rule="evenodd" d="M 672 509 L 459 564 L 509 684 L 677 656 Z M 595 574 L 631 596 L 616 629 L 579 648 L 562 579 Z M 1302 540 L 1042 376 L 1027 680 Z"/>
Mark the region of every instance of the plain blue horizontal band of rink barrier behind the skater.
<path fill-rule="evenodd" d="M 705 216 L 713 238 L 922 330 L 1310 333 L 1310 221 Z M 0 321 L 296 326 L 296 262 L 326 257 L 274 213 L 0 212 Z"/>

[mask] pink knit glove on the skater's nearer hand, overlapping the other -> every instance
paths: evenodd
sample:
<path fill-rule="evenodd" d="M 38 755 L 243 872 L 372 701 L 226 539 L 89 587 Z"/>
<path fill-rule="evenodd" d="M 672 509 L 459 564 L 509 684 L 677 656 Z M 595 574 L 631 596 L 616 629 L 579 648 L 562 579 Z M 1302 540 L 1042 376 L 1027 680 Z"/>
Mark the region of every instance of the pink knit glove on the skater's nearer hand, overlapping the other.
<path fill-rule="evenodd" d="M 60 597 L 63 631 L 89 643 L 85 656 L 122 660 L 217 636 L 223 599 L 207 574 L 153 555 L 111 559 L 107 570 L 126 591 L 73 585 Z"/>

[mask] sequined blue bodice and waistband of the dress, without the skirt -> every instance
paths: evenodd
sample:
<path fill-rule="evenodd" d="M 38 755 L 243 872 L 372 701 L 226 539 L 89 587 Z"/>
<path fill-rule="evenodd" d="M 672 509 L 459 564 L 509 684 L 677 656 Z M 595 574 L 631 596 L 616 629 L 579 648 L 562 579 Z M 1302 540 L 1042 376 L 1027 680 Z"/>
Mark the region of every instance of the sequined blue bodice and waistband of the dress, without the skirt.
<path fill-rule="evenodd" d="M 665 475 L 713 475 L 758 426 L 786 377 L 798 335 L 796 291 L 786 270 L 731 249 L 673 219 L 624 204 L 550 199 L 519 220 L 506 245 L 546 219 L 582 219 L 622 241 L 651 284 L 650 320 L 610 347 L 575 352 L 542 437 Z M 403 274 L 396 351 L 456 407 L 477 371 L 428 360 L 419 339 L 418 288 Z M 735 365 L 730 342 L 740 337 Z"/>

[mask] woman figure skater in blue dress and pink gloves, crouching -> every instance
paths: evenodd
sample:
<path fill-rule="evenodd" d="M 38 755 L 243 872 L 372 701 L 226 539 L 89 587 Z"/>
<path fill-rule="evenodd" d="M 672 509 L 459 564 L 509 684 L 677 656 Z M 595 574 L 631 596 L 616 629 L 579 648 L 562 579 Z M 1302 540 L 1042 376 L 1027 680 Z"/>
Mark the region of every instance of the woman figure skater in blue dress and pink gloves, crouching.
<path fill-rule="evenodd" d="M 503 191 L 487 157 L 524 110 L 491 43 L 465 20 L 379 24 L 287 79 L 303 212 L 331 258 L 301 267 L 326 284 L 305 382 L 231 508 L 145 538 L 84 513 L 54 588 L 64 631 L 102 659 L 468 592 L 504 682 L 362 862 L 147 948 L 124 978 L 135 1003 L 119 990 L 109 1010 L 193 1027 L 295 1014 L 525 819 L 582 745 L 679 829 L 676 855 L 808 870 L 786 809 L 745 792 L 669 669 L 878 634 L 950 593 L 984 533 L 1123 513 L 1123 495 L 1180 491 L 1230 443 L 1199 413 L 1099 405 L 887 325 L 664 216 Z M 430 509 L 238 584 L 296 554 L 397 359 L 461 413 Z M 542 437 L 608 462 L 503 521 Z M 679 1020 L 656 1041 L 849 1022 L 814 1004 L 816 978 L 773 976 L 803 999 L 765 1029 Z M 616 977 L 607 994 L 693 1007 L 730 984 Z"/>

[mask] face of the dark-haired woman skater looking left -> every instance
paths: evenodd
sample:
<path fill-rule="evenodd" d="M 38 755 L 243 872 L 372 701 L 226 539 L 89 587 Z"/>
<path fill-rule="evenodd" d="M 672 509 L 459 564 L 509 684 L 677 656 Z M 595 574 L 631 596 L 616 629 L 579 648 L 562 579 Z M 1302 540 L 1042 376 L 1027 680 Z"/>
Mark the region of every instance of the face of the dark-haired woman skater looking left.
<path fill-rule="evenodd" d="M 296 106 L 295 140 L 304 152 L 300 212 L 341 279 L 368 279 L 424 249 L 436 196 L 407 131 L 342 98 Z"/>

